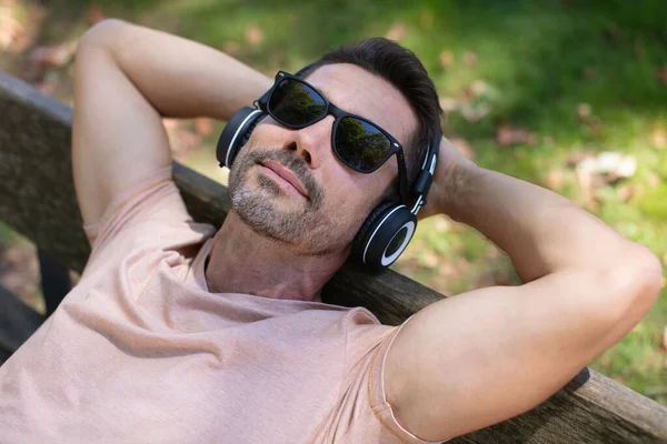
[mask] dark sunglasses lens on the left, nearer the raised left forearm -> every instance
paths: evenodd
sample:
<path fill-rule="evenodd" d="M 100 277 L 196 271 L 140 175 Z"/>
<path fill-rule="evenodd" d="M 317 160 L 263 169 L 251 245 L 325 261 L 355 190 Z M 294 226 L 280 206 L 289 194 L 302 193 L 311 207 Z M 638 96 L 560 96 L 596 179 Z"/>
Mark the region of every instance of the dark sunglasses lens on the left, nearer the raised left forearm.
<path fill-rule="evenodd" d="M 268 108 L 280 123 L 301 127 L 322 117 L 327 111 L 327 102 L 312 88 L 285 79 L 273 89 Z"/>

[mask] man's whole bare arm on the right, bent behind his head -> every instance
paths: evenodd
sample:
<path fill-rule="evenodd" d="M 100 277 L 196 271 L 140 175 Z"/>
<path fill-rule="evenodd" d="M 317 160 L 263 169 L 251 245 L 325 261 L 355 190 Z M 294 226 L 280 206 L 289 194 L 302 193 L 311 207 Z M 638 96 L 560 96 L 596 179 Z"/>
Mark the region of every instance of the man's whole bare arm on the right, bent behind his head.
<path fill-rule="evenodd" d="M 444 141 L 431 210 L 485 234 L 524 285 L 429 305 L 389 350 L 385 384 L 398 421 L 441 441 L 526 412 L 623 337 L 656 301 L 661 268 L 567 199 L 484 170 Z"/>

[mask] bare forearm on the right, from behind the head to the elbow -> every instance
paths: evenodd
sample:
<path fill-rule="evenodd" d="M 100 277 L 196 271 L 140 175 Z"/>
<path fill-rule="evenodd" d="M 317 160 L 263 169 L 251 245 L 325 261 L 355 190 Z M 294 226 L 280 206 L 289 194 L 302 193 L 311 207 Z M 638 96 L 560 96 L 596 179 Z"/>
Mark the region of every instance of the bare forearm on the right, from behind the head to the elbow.
<path fill-rule="evenodd" d="M 643 250 L 569 200 L 541 186 L 471 163 L 442 190 L 444 212 L 509 254 L 524 282 L 566 269 L 618 265 Z"/>

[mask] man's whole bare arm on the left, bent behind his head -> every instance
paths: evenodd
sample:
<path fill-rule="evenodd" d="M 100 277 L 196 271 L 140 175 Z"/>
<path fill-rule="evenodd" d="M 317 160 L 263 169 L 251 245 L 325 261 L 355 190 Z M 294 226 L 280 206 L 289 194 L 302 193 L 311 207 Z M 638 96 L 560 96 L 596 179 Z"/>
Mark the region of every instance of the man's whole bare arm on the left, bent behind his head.
<path fill-rule="evenodd" d="M 271 84 L 212 48 L 120 20 L 82 37 L 74 77 L 72 167 L 86 224 L 128 184 L 171 164 L 161 117 L 228 120 Z"/>

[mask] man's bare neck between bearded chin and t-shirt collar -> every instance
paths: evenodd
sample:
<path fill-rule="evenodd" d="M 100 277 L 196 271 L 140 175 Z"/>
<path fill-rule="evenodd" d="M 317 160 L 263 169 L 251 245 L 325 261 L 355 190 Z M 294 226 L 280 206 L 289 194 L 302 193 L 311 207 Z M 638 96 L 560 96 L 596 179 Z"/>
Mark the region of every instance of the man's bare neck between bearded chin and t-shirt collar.
<path fill-rule="evenodd" d="M 321 302 L 322 286 L 347 254 L 347 250 L 299 253 L 287 243 L 257 234 L 231 211 L 213 239 L 206 280 L 212 293 Z"/>

